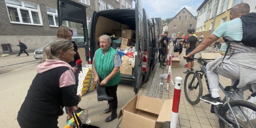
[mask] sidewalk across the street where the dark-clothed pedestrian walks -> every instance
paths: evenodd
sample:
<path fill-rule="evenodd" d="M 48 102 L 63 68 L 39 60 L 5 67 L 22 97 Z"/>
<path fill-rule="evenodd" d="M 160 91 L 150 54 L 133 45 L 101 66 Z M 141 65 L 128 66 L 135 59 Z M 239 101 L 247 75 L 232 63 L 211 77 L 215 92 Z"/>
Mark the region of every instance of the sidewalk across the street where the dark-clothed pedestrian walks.
<path fill-rule="evenodd" d="M 12 66 L 12 65 L 18 65 L 22 63 L 27 62 L 33 62 L 33 61 L 41 61 L 41 60 L 35 60 L 33 57 L 33 52 L 28 53 L 30 56 L 27 56 L 25 53 L 22 53 L 20 57 L 17 57 L 17 54 L 13 54 L 6 57 L 0 57 L 0 68 Z"/>

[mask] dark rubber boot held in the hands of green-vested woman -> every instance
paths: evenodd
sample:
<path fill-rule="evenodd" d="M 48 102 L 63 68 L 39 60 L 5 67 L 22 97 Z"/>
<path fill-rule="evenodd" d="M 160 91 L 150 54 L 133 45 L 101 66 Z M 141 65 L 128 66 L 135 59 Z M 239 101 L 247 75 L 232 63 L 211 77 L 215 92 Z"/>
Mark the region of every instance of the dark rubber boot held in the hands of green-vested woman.
<path fill-rule="evenodd" d="M 114 99 L 113 97 L 110 97 L 106 94 L 105 86 L 100 86 L 99 83 L 96 84 L 96 90 L 97 90 L 98 101 L 113 100 Z"/>

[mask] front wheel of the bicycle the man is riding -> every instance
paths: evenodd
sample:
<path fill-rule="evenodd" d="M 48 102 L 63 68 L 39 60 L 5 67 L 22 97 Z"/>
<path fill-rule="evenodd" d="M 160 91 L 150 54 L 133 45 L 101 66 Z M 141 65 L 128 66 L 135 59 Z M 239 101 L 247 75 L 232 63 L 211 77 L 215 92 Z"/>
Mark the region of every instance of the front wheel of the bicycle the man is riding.
<path fill-rule="evenodd" d="M 187 101 L 192 104 L 198 104 L 200 102 L 200 96 L 203 94 L 203 84 L 199 74 L 195 78 L 193 76 L 195 72 L 190 71 L 187 73 L 184 80 L 184 93 Z M 193 81 L 193 82 L 192 82 Z"/>

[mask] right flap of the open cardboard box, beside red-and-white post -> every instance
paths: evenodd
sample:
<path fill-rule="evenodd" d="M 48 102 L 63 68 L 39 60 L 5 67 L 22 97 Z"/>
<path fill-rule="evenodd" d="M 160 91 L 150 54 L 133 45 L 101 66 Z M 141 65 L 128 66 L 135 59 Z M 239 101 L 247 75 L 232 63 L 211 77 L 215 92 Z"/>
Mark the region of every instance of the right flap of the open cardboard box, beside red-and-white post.
<path fill-rule="evenodd" d="M 172 116 L 172 103 L 173 99 L 168 99 L 163 101 L 163 105 L 160 114 L 157 118 L 157 122 L 169 122 Z"/>

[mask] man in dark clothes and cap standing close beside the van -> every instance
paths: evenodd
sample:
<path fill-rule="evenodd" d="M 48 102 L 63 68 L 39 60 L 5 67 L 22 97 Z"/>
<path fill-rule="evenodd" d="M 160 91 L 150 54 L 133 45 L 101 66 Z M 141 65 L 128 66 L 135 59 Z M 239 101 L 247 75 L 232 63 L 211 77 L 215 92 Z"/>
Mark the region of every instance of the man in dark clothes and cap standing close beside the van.
<path fill-rule="evenodd" d="M 163 34 L 163 37 L 161 38 L 161 53 L 162 53 L 162 57 L 161 57 L 161 62 L 160 62 L 160 68 L 165 68 L 165 59 L 166 59 L 166 56 L 167 56 L 167 48 L 168 48 L 168 45 L 167 45 L 167 42 L 168 42 L 168 38 L 167 38 L 167 35 L 168 35 L 168 31 L 166 30 L 165 33 Z"/>

